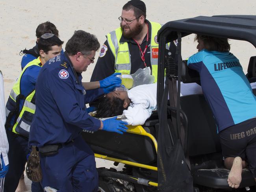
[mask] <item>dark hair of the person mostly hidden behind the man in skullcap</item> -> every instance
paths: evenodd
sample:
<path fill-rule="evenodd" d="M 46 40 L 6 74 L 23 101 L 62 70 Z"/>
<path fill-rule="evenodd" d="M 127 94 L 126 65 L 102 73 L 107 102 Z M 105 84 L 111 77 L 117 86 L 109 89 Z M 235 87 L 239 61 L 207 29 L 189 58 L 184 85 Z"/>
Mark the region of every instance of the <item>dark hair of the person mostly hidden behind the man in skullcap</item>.
<path fill-rule="evenodd" d="M 56 26 L 50 21 L 46 21 L 44 23 L 39 24 L 37 29 L 35 30 L 35 36 L 40 38 L 45 33 L 53 33 L 54 35 L 59 37 L 59 31 Z"/>

